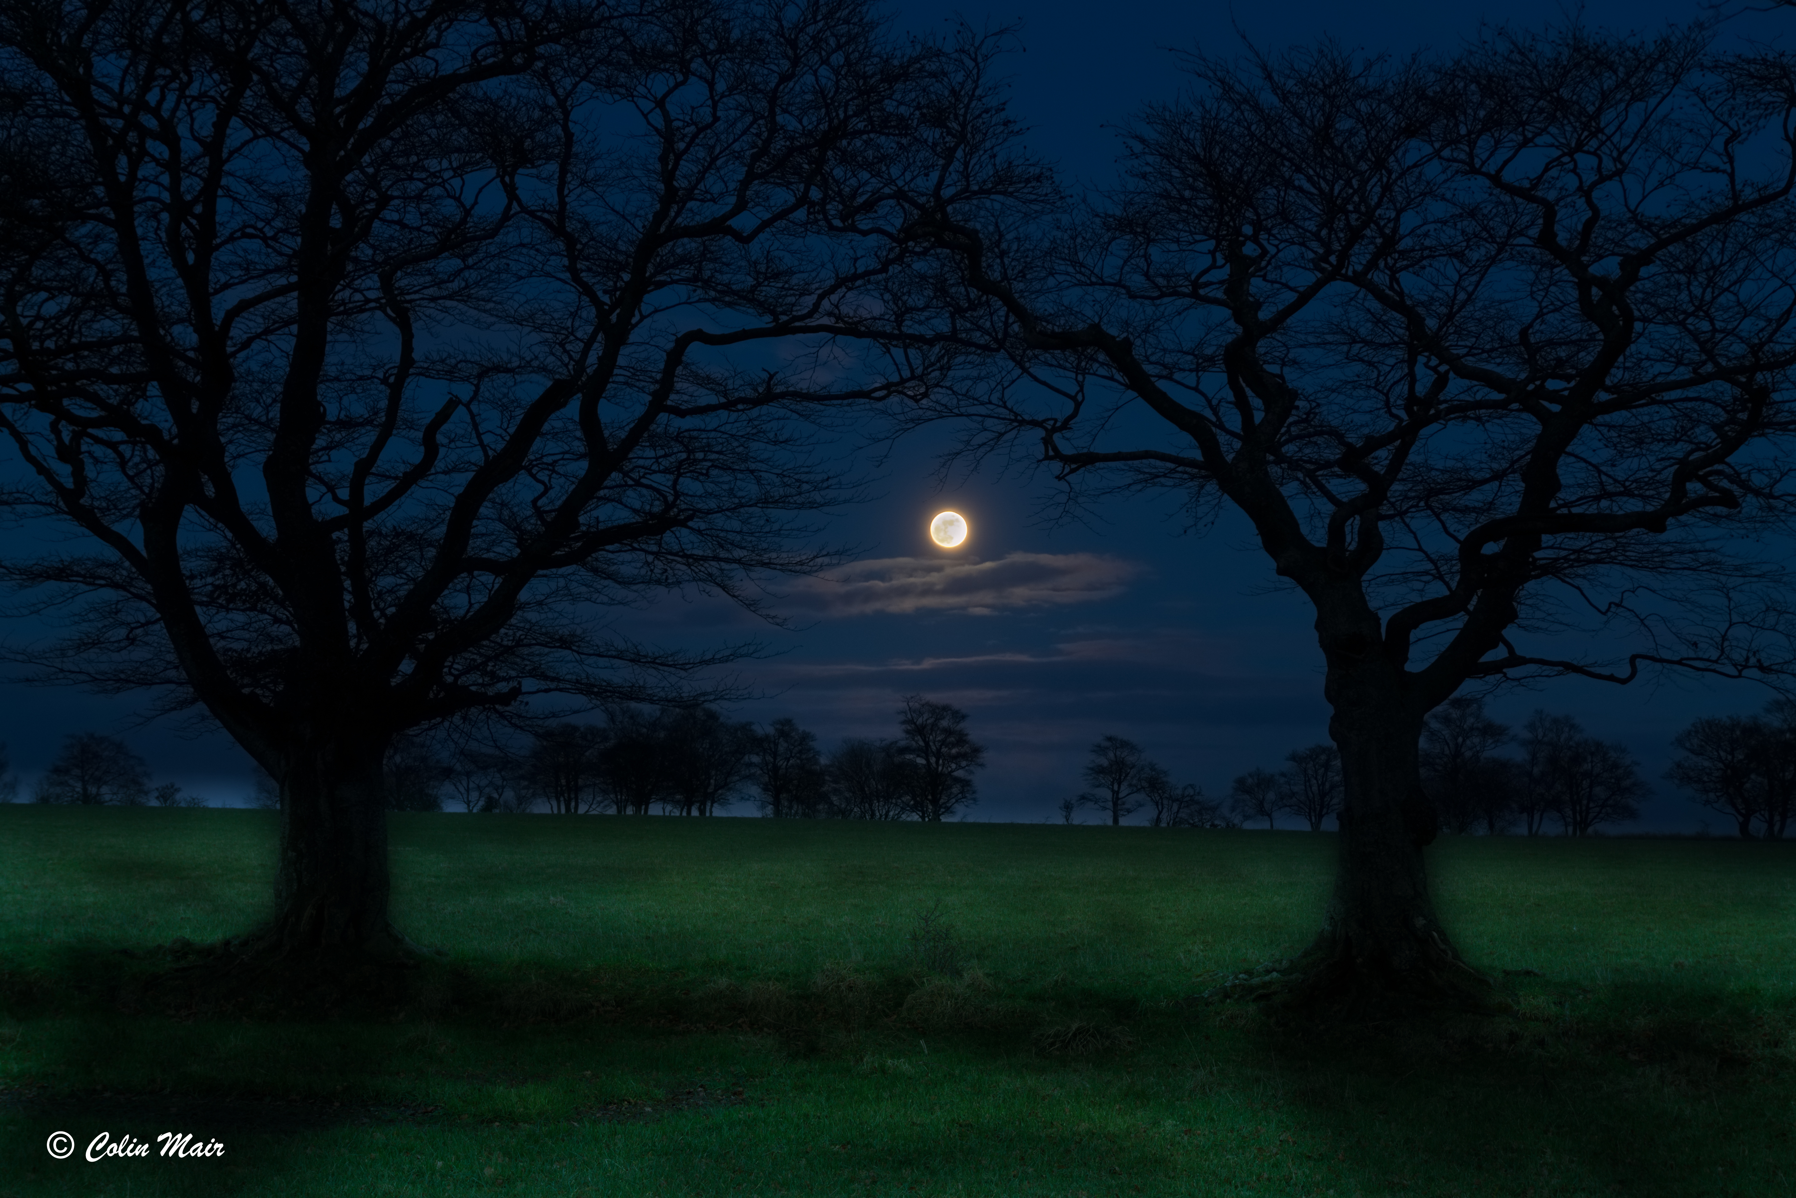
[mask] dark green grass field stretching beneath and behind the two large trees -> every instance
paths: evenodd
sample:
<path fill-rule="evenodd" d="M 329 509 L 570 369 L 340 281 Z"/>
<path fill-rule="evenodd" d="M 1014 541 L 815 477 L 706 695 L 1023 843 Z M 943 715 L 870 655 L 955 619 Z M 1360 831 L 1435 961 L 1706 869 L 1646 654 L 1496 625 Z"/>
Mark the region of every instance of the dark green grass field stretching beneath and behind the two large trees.
<path fill-rule="evenodd" d="M 1315 1035 L 1196 995 L 1329 835 L 395 815 L 402 1008 L 133 997 L 273 837 L 0 806 L 0 1194 L 1796 1193 L 1791 844 L 1448 841 L 1514 1013 Z M 171 1130 L 226 1151 L 83 1160 Z"/>

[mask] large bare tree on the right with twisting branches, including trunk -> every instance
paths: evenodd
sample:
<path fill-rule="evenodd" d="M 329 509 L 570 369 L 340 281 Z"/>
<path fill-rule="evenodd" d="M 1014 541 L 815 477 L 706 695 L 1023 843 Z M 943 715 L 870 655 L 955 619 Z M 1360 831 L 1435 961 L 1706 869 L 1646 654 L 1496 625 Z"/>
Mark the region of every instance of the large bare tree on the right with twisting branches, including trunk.
<path fill-rule="evenodd" d="M 1194 57 L 1083 210 L 920 201 L 1004 365 L 921 418 L 1196 524 L 1232 507 L 1315 609 L 1343 812 L 1300 1002 L 1483 988 L 1424 871 L 1439 704 L 1787 659 L 1762 533 L 1796 417 L 1796 74 L 1710 32 Z"/>

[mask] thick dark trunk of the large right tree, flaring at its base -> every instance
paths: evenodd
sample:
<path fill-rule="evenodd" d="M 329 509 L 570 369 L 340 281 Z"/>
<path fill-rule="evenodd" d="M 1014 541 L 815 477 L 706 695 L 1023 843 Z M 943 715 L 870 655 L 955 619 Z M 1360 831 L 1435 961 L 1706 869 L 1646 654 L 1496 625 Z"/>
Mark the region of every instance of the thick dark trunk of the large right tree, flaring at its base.
<path fill-rule="evenodd" d="M 1426 711 L 1381 661 L 1329 675 L 1343 781 L 1340 869 L 1290 997 L 1349 1018 L 1482 1006 L 1489 982 L 1448 941 L 1428 894 L 1422 850 L 1439 823 L 1417 767 Z"/>

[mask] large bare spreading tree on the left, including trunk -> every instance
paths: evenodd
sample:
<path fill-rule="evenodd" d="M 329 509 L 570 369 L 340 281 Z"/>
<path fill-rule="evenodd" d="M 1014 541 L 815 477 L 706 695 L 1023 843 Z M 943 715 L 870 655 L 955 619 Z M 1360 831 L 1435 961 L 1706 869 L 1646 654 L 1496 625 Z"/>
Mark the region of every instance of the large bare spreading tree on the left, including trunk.
<path fill-rule="evenodd" d="M 796 410 L 952 366 L 885 198 L 1034 185 L 932 169 L 963 57 L 860 0 L 4 5 L 5 494 L 81 533 L 5 573 L 40 675 L 278 781 L 248 952 L 404 950 L 393 736 L 666 697 L 706 657 L 607 612 L 821 560 Z"/>

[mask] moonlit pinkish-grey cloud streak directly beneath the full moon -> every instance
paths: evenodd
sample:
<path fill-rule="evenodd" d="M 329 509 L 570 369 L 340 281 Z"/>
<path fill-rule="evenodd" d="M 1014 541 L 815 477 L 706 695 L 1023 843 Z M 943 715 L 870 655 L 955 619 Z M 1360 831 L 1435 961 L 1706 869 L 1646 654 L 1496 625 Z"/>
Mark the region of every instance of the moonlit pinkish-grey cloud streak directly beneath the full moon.
<path fill-rule="evenodd" d="M 1140 566 L 1101 553 L 1011 553 L 997 562 L 882 557 L 801 580 L 788 602 L 824 616 L 990 614 L 1112 598 Z"/>

